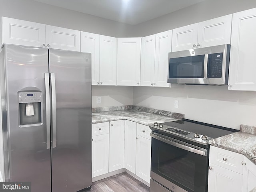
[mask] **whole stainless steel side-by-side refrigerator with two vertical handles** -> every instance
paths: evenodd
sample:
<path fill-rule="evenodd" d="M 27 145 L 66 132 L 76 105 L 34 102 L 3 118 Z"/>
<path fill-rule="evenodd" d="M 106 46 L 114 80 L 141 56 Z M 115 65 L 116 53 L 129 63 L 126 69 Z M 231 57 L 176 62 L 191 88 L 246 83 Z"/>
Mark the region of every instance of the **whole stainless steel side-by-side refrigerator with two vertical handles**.
<path fill-rule="evenodd" d="M 5 180 L 32 192 L 92 185 L 91 54 L 4 45 L 0 53 Z"/>

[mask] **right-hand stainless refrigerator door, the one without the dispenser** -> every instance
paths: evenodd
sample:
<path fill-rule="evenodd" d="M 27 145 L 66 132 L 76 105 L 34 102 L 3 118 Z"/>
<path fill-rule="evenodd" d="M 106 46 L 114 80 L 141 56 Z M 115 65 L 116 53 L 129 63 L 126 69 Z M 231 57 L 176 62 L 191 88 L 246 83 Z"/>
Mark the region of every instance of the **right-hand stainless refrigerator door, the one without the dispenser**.
<path fill-rule="evenodd" d="M 91 54 L 49 49 L 49 63 L 56 87 L 52 192 L 76 192 L 92 185 Z"/>

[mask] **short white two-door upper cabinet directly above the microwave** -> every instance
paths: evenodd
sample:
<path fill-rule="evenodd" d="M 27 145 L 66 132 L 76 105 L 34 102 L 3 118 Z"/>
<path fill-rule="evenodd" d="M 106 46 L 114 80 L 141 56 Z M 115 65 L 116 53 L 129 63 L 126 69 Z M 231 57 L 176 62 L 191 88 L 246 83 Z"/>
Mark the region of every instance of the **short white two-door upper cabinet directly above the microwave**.
<path fill-rule="evenodd" d="M 176 28 L 172 52 L 230 44 L 232 14 Z"/>

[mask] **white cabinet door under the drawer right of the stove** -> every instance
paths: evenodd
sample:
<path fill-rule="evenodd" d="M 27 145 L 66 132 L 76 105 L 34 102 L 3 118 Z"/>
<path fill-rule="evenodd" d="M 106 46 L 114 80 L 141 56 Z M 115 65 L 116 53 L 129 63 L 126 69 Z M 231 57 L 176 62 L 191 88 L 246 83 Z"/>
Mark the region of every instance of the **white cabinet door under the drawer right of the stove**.
<path fill-rule="evenodd" d="M 241 192 L 243 175 L 209 163 L 208 192 Z"/>

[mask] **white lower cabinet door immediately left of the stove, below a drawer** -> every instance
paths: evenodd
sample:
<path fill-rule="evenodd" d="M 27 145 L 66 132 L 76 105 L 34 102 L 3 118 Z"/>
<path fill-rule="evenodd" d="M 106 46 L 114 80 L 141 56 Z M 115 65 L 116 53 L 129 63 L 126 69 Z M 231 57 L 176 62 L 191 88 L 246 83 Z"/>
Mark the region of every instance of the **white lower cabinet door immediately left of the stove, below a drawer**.
<path fill-rule="evenodd" d="M 150 183 L 151 140 L 137 136 L 136 175 Z"/>

